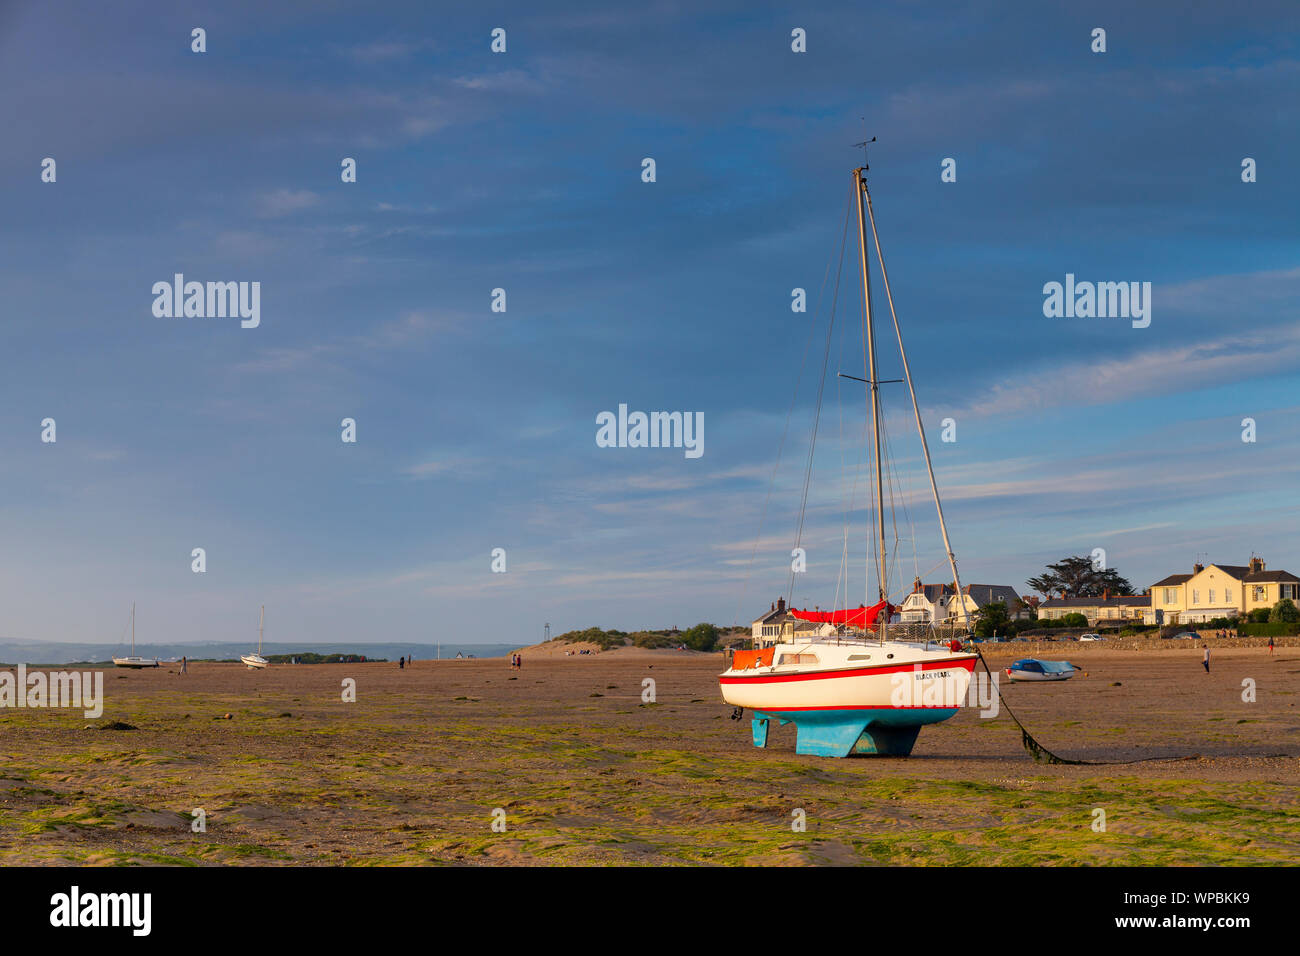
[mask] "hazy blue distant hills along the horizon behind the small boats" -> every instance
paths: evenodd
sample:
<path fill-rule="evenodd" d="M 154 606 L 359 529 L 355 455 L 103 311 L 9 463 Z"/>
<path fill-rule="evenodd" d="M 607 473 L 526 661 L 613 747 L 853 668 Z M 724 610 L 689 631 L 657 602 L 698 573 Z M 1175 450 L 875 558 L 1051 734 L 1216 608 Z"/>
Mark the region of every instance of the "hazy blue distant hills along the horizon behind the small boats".
<path fill-rule="evenodd" d="M 387 658 L 396 661 L 399 657 L 413 657 L 416 661 L 432 661 L 439 657 L 452 658 L 458 653 L 473 654 L 474 657 L 503 657 L 510 653 L 514 644 L 443 644 L 439 652 L 437 644 L 391 644 L 391 643 L 361 643 L 355 644 L 285 644 L 280 641 L 266 641 L 263 653 L 266 657 L 276 654 L 364 654 L 367 658 Z M 135 653 L 139 657 L 157 657 L 161 659 L 188 657 L 191 661 L 234 661 L 240 654 L 256 650 L 256 643 L 226 641 L 226 643 L 194 643 L 194 644 L 135 644 Z M 64 665 L 73 662 L 107 662 L 114 656 L 131 653 L 129 645 L 121 644 L 77 644 L 60 641 L 16 641 L 0 640 L 0 663 L 16 665 Z"/>

